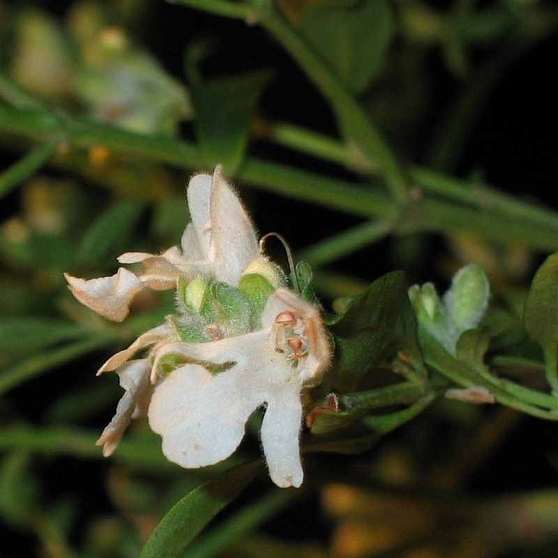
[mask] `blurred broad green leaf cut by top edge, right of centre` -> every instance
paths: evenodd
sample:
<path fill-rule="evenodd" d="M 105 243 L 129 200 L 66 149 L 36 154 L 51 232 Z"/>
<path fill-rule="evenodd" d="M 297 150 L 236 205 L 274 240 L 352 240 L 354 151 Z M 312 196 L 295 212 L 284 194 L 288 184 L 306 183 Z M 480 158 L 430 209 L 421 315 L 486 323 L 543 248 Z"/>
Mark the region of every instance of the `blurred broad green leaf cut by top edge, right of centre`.
<path fill-rule="evenodd" d="M 312 3 L 299 28 L 340 82 L 357 94 L 382 68 L 394 32 L 387 0 Z"/>

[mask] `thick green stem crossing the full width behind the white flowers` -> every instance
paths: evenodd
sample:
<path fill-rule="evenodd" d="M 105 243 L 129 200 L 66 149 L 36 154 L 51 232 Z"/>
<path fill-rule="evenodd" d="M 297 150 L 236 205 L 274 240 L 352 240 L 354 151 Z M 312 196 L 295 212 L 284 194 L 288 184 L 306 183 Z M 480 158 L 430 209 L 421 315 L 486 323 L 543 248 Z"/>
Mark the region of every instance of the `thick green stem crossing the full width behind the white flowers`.
<path fill-rule="evenodd" d="M 54 116 L 45 110 L 21 111 L 0 105 L 0 130 L 43 142 L 63 137 L 70 148 L 105 146 L 119 156 L 169 163 L 188 171 L 204 165 L 194 144 L 161 135 L 133 133 L 88 119 Z M 394 223 L 393 234 L 466 231 L 487 239 L 522 243 L 541 250 L 558 248 L 558 216 L 546 209 L 490 188 L 479 192 L 471 188 L 470 183 L 425 169 L 414 169 L 413 176 L 426 190 L 467 205 L 423 195 L 400 207 L 372 186 L 365 187 L 353 181 L 256 158 L 246 159 L 237 178 L 256 188 L 294 199 L 322 204 L 357 216 L 390 220 Z M 489 204 L 488 207 L 485 204 Z M 483 211 L 470 205 L 480 206 Z"/>

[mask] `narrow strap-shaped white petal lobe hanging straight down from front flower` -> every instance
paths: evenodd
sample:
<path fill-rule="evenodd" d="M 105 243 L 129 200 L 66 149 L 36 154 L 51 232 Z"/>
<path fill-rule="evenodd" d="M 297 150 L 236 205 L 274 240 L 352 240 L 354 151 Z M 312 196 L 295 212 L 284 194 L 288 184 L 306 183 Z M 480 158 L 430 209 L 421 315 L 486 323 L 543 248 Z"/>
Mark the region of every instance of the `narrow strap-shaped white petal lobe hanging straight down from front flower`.
<path fill-rule="evenodd" d="M 275 386 L 268 394 L 262 422 L 262 446 L 271 480 L 280 488 L 298 488 L 303 481 L 299 435 L 302 422 L 301 384 Z"/>

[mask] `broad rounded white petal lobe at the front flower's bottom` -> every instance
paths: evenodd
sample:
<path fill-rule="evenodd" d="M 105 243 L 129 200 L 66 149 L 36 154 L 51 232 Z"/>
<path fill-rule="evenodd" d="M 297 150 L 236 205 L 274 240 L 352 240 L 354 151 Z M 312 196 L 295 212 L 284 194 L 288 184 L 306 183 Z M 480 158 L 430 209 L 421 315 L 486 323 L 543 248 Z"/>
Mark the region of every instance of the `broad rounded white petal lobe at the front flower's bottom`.
<path fill-rule="evenodd" d="M 202 365 L 186 364 L 156 386 L 149 425 L 163 438 L 165 457 L 185 468 L 226 459 L 239 446 L 246 421 L 262 404 L 246 393 L 243 370 L 211 375 Z"/>

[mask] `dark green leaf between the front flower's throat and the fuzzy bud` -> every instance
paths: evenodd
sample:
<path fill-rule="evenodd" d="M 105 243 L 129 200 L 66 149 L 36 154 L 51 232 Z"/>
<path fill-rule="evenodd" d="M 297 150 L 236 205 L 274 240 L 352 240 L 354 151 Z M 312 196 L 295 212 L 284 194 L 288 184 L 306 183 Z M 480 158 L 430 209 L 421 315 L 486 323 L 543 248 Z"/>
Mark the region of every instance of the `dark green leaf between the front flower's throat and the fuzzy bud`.
<path fill-rule="evenodd" d="M 373 282 L 331 326 L 331 333 L 338 347 L 336 386 L 340 391 L 357 391 L 363 376 L 391 362 L 398 351 L 405 352 L 415 370 L 422 369 L 416 321 L 402 271 Z"/>

